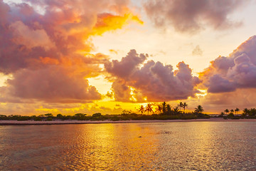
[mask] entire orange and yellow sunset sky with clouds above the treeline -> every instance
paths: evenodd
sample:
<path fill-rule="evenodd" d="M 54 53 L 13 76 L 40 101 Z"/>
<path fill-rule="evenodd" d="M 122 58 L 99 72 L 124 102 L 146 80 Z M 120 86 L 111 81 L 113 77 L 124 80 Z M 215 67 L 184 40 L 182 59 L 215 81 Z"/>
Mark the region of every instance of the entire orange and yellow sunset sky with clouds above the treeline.
<path fill-rule="evenodd" d="M 0 0 L 0 115 L 256 106 L 255 0 Z"/>

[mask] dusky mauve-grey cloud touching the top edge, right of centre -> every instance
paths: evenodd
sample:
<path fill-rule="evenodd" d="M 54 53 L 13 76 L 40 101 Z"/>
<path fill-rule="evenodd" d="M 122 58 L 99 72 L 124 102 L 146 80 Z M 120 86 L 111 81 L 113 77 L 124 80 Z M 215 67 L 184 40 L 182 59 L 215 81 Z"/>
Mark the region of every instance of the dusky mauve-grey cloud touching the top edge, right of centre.
<path fill-rule="evenodd" d="M 248 2 L 248 1 L 247 1 Z M 205 26 L 215 30 L 240 26 L 230 14 L 246 1 L 240 0 L 150 0 L 144 4 L 146 14 L 159 27 L 172 26 L 181 33 L 198 33 Z"/>

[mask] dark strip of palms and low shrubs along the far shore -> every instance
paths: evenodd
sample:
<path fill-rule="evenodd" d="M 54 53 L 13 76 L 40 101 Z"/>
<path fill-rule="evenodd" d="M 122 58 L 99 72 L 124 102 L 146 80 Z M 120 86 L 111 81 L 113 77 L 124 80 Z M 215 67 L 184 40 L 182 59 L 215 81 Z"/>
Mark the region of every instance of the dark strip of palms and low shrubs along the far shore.
<path fill-rule="evenodd" d="M 156 106 L 155 110 L 153 106 Z M 101 113 L 95 113 L 93 115 L 87 115 L 85 113 L 76 113 L 75 115 L 53 115 L 52 113 L 46 113 L 43 115 L 0 115 L 0 120 L 35 120 L 35 121 L 51 121 L 51 120 L 189 120 L 199 118 L 210 118 L 209 115 L 203 113 L 203 107 L 198 105 L 193 112 L 186 112 L 188 108 L 187 103 L 178 103 L 178 105 L 172 107 L 171 105 L 163 102 L 159 105 L 153 105 L 151 103 L 146 106 L 140 105 L 137 113 L 132 110 L 123 110 L 122 113 L 117 115 L 102 115 Z M 242 113 L 239 113 L 240 109 L 225 109 L 218 118 L 224 119 L 241 119 L 241 118 L 256 118 L 256 109 L 245 108 Z M 151 113 L 151 115 L 150 115 Z"/>

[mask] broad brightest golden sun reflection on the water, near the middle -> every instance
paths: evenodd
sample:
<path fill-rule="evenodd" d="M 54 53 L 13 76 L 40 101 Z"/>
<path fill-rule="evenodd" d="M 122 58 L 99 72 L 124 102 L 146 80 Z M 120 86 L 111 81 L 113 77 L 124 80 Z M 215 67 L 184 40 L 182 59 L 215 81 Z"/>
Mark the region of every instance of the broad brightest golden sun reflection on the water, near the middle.
<path fill-rule="evenodd" d="M 92 125 L 90 131 L 83 128 L 82 133 L 82 138 L 92 139 L 94 143 L 90 150 L 82 148 L 77 155 L 82 158 L 90 152 L 90 160 L 85 159 L 84 164 L 93 161 L 93 164 L 90 163 L 92 167 L 102 169 L 124 168 L 126 163 L 135 168 L 140 167 L 141 162 L 150 167 L 150 162 L 154 160 L 151 154 L 156 153 L 158 146 L 157 138 L 152 138 L 154 130 L 137 124 L 127 124 L 125 127 L 111 123 L 104 126 Z"/>

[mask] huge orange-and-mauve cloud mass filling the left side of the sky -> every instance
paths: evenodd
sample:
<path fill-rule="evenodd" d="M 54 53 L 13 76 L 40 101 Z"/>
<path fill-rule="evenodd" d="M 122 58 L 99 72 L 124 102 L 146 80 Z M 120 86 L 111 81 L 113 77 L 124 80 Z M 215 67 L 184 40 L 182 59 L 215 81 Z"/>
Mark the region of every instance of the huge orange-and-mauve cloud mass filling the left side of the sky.
<path fill-rule="evenodd" d="M 0 0 L 0 72 L 10 75 L 0 99 L 13 103 L 85 103 L 100 93 L 86 78 L 102 73 L 108 56 L 92 54 L 91 36 L 142 21 L 129 1 Z"/>

